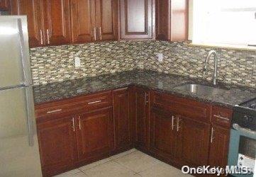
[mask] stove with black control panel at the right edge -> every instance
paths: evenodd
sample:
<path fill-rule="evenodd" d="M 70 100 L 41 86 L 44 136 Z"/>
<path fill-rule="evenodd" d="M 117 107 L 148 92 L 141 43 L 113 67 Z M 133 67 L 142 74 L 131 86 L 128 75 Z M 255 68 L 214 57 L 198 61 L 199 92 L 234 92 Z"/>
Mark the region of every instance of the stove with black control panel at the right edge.
<path fill-rule="evenodd" d="M 256 98 L 235 106 L 232 123 L 228 165 L 249 167 L 253 173 L 246 176 L 256 176 Z"/>

